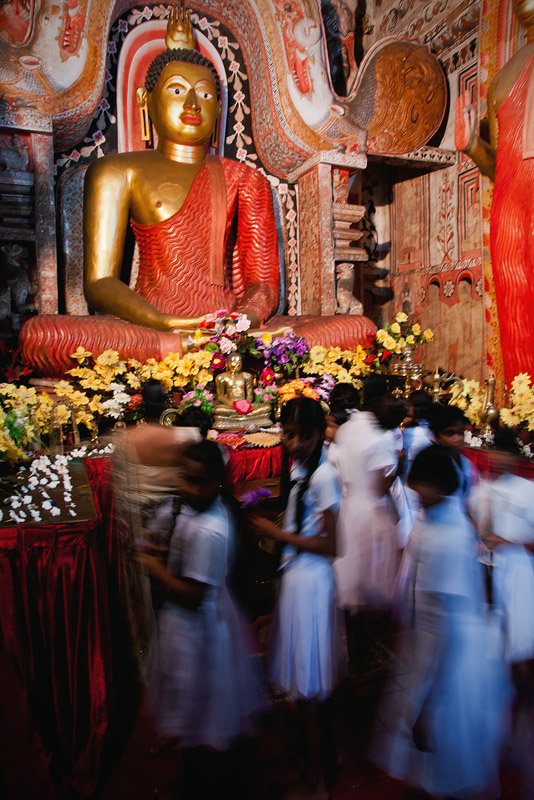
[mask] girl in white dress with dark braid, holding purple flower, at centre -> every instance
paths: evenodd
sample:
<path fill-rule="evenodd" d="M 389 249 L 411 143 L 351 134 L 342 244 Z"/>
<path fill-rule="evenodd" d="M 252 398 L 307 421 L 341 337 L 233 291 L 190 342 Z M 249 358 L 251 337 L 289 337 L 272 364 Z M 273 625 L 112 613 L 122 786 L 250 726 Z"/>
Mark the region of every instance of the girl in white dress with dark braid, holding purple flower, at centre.
<path fill-rule="evenodd" d="M 255 517 L 260 536 L 283 542 L 282 579 L 275 612 L 271 677 L 299 702 L 305 736 L 304 790 L 327 797 L 323 746 L 332 745 L 325 701 L 340 677 L 339 638 L 332 559 L 341 490 L 323 449 L 325 416 L 320 403 L 297 397 L 282 407 L 284 446 L 293 487 L 281 529 Z M 327 766 L 327 765 L 324 765 Z"/>

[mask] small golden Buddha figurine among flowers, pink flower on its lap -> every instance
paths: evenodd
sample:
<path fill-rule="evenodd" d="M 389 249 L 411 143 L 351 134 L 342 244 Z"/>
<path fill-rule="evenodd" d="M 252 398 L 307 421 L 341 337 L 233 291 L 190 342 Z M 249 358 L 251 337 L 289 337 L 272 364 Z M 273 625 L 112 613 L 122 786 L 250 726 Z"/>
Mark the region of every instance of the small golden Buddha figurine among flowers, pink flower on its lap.
<path fill-rule="evenodd" d="M 248 425 L 268 428 L 272 425 L 271 406 L 269 403 L 254 402 L 254 385 L 250 372 L 243 372 L 241 356 L 234 353 L 226 362 L 227 372 L 222 372 L 215 379 L 217 404 L 213 409 L 213 427 L 216 430 L 239 430 Z M 240 400 L 252 404 L 248 413 L 240 413 L 234 403 Z"/>

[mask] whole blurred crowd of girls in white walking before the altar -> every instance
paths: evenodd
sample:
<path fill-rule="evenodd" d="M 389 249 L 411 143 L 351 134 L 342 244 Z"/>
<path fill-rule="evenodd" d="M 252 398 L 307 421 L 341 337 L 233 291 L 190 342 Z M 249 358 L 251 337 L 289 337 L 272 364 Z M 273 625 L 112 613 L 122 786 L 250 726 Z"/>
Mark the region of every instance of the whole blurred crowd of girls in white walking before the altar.
<path fill-rule="evenodd" d="M 180 746 L 182 796 L 203 796 L 210 753 L 257 734 L 270 687 L 302 723 L 288 796 L 328 797 L 330 699 L 361 671 L 370 620 L 387 641 L 397 632 L 405 672 L 402 692 L 384 692 L 377 765 L 432 797 L 478 800 L 499 797 L 512 754 L 530 796 L 534 483 L 516 474 L 513 433 L 496 431 L 481 479 L 462 412 L 423 390 L 405 401 L 371 375 L 362 396 L 334 387 L 328 409 L 297 397 L 281 409 L 282 516 L 240 506 L 197 411 L 124 434 L 115 470 L 132 642 L 157 729 Z M 280 556 L 263 674 L 244 590 L 254 537 Z"/>

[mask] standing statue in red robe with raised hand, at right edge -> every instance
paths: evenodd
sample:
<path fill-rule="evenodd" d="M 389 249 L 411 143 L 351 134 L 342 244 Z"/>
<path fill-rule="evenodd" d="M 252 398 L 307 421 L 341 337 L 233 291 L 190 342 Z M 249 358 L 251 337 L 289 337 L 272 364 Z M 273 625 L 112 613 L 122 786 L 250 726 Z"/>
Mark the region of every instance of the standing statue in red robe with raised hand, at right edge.
<path fill-rule="evenodd" d="M 513 6 L 527 44 L 490 85 L 489 144 L 467 95 L 456 109 L 456 147 L 494 181 L 490 247 L 507 381 L 534 370 L 534 0 Z"/>

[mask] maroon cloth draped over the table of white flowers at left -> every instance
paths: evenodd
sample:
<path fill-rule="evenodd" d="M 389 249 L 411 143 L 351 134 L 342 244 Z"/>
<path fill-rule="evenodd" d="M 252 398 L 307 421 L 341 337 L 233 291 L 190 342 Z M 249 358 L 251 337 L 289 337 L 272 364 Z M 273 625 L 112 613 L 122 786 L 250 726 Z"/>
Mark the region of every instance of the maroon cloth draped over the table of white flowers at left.
<path fill-rule="evenodd" d="M 0 528 L 0 796 L 10 800 L 91 795 L 137 709 L 111 459 L 86 467 L 98 519 Z"/>

